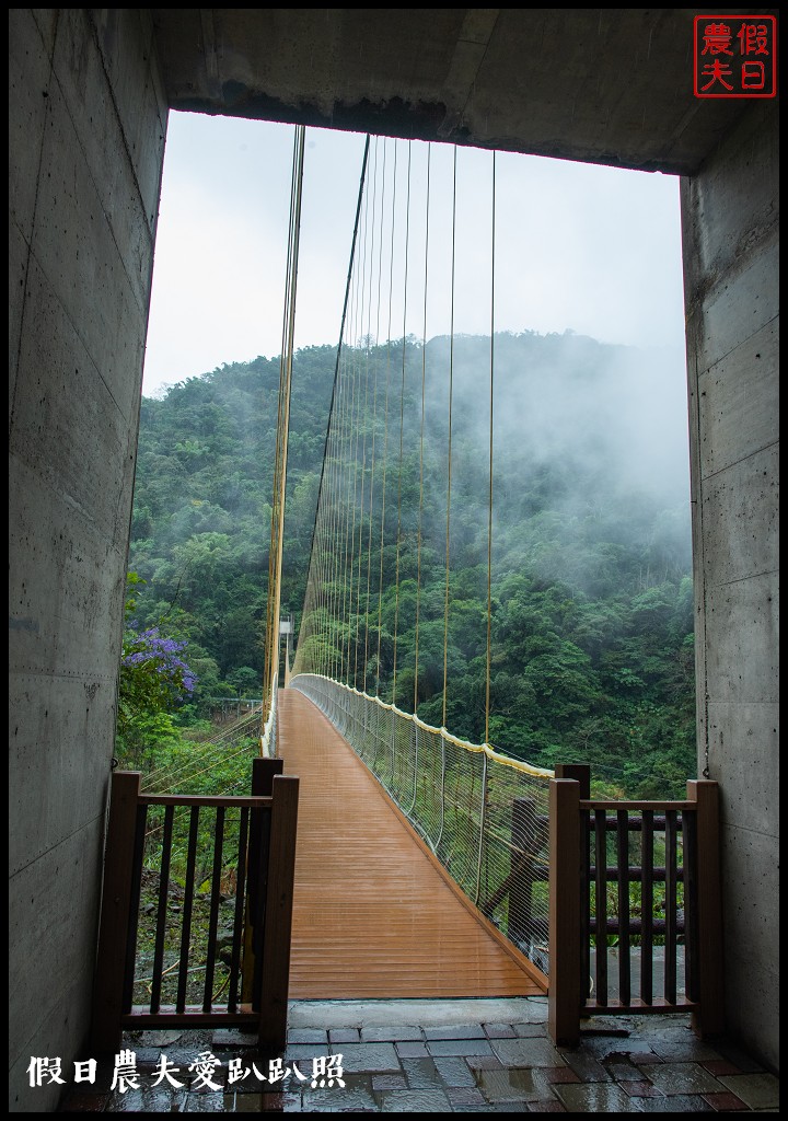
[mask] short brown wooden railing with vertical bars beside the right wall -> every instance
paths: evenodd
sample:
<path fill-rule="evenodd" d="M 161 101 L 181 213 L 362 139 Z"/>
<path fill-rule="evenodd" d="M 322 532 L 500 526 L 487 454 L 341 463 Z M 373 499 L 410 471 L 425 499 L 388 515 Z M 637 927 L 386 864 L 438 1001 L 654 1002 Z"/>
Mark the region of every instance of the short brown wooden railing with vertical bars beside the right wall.
<path fill-rule="evenodd" d="M 602 802 L 588 797 L 586 768 L 557 772 L 549 826 L 550 1036 L 575 1046 L 583 1017 L 680 1011 L 692 1013 L 698 1035 L 720 1034 L 716 782 L 687 782 L 684 802 Z"/>

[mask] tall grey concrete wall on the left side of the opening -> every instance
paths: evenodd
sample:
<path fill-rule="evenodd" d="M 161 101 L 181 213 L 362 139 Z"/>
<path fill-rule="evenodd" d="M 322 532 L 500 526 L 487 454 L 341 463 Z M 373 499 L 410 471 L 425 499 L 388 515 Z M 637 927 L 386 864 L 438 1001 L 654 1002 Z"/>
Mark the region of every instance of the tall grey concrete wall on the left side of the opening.
<path fill-rule="evenodd" d="M 167 106 L 145 9 L 9 10 L 9 1108 L 81 1053 Z M 84 1056 L 83 1056 L 84 1057 Z"/>

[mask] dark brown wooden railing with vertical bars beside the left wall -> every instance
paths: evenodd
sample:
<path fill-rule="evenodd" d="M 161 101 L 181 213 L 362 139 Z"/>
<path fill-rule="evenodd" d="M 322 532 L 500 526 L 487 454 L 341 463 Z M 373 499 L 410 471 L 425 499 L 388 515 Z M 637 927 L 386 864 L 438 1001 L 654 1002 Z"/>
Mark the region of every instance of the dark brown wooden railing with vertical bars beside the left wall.
<path fill-rule="evenodd" d="M 211 1025 L 284 1048 L 298 779 L 281 769 L 256 759 L 251 797 L 142 794 L 138 772 L 112 776 L 94 1053 L 123 1030 Z"/>

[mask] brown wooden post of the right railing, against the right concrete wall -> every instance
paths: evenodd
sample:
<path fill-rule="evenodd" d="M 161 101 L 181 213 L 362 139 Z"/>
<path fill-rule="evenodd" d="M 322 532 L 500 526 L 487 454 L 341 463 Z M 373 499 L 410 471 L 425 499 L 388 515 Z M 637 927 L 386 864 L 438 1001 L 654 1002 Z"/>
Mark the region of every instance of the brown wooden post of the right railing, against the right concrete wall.
<path fill-rule="evenodd" d="M 687 802 L 697 806 L 697 941 L 701 1010 L 693 1013 L 693 1030 L 717 1036 L 725 1028 L 720 876 L 720 790 L 716 782 L 687 782 Z M 686 906 L 686 901 L 685 901 Z"/>

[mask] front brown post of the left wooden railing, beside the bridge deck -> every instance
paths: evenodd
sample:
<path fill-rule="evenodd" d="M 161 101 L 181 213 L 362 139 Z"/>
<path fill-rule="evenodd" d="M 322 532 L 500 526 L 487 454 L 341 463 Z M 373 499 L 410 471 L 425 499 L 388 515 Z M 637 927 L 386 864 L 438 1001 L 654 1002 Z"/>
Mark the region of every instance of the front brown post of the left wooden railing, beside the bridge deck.
<path fill-rule="evenodd" d="M 282 1050 L 287 1040 L 298 779 L 277 775 L 272 794 L 258 1039 L 261 1048 Z"/>

